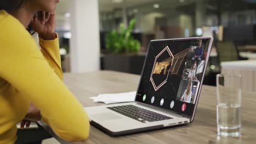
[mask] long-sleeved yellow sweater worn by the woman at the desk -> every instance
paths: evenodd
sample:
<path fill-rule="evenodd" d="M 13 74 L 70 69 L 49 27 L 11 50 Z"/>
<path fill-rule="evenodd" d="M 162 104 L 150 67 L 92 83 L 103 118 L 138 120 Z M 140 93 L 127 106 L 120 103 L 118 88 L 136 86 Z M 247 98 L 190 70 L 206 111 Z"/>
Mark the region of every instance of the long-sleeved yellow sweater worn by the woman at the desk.
<path fill-rule="evenodd" d="M 65 140 L 85 140 L 89 119 L 62 82 L 59 42 L 39 39 L 40 50 L 25 27 L 0 10 L 0 143 L 14 143 L 16 124 L 30 103 L 42 121 Z"/>

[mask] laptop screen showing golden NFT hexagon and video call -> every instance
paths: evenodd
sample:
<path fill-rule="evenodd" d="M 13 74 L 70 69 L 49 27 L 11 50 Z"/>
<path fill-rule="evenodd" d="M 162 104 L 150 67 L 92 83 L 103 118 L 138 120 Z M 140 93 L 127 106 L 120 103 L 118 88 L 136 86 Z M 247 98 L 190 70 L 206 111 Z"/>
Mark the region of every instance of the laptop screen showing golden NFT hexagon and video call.
<path fill-rule="evenodd" d="M 153 40 L 136 101 L 192 116 L 211 38 Z"/>

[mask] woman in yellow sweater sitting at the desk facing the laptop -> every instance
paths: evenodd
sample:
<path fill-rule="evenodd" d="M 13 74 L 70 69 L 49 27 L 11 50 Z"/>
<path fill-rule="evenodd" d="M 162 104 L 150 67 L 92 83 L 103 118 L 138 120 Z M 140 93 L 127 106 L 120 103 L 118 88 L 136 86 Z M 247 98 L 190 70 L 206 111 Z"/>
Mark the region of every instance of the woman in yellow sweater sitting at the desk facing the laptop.
<path fill-rule="evenodd" d="M 0 2 L 0 143 L 16 141 L 22 119 L 26 125 L 42 120 L 64 140 L 88 139 L 88 116 L 62 82 L 54 14 L 58 2 Z M 28 26 L 39 34 L 40 50 Z"/>

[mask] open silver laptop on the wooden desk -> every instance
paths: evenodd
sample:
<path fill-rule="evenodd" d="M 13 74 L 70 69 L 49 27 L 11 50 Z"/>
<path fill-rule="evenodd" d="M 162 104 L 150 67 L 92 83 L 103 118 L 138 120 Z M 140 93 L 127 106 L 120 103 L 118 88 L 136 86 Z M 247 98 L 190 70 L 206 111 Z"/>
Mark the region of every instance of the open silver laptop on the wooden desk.
<path fill-rule="evenodd" d="M 150 41 L 135 100 L 85 107 L 90 124 L 121 136 L 193 122 L 212 41 Z"/>

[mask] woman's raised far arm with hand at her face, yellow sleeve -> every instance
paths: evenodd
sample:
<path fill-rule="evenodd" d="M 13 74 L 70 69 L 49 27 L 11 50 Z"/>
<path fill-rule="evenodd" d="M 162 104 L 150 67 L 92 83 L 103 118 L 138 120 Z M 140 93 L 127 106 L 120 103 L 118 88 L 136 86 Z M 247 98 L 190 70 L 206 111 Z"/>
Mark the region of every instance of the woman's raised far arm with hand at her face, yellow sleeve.
<path fill-rule="evenodd" d="M 55 33 L 55 14 L 38 11 L 33 17 L 30 26 L 38 33 L 40 50 L 44 58 L 62 80 L 59 40 L 58 35 Z"/>

